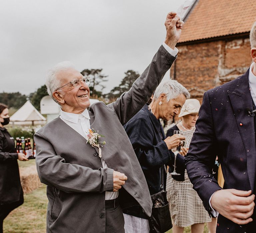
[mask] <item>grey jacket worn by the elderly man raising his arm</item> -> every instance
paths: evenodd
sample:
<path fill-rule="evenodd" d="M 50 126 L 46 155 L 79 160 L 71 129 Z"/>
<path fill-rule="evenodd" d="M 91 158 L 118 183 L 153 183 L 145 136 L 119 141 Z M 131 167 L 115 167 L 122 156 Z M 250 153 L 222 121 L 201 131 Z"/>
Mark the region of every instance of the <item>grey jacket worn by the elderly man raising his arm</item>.
<path fill-rule="evenodd" d="M 146 104 L 174 60 L 161 46 L 128 92 L 108 106 L 90 107 L 91 128 L 105 136 L 102 158 L 109 168 L 102 168 L 97 148 L 59 117 L 35 133 L 37 171 L 49 199 L 47 232 L 105 232 L 105 191 L 113 191 L 113 170 L 128 177 L 121 207 L 139 203 L 151 215 L 147 183 L 122 125 Z"/>

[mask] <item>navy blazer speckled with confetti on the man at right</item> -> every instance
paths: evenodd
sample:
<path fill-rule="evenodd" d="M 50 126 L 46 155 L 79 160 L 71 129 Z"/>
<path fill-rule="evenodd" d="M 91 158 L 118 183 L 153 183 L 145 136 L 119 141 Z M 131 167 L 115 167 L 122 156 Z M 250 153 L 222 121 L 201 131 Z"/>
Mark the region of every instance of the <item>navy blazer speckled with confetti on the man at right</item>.
<path fill-rule="evenodd" d="M 248 74 L 249 70 L 204 94 L 196 130 L 185 157 L 188 176 L 209 213 L 209 199 L 221 189 L 212 177 L 216 155 L 225 179 L 224 189 L 251 189 L 255 193 L 255 124 L 254 117 L 248 114 L 248 110 L 255 107 Z M 251 224 L 255 222 L 254 218 Z M 249 227 L 235 224 L 221 215 L 218 217 L 217 232 L 244 233 Z"/>

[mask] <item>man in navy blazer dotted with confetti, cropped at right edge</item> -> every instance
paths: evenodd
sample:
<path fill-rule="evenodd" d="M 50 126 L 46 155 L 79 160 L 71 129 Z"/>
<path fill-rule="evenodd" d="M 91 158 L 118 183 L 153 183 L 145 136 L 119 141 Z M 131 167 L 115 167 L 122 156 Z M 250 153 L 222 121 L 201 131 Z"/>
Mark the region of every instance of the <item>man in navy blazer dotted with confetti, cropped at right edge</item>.
<path fill-rule="evenodd" d="M 247 72 L 204 94 L 185 158 L 205 208 L 219 216 L 221 233 L 256 232 L 256 22 L 250 43 L 253 63 Z M 212 176 L 216 155 L 225 179 L 223 189 Z"/>

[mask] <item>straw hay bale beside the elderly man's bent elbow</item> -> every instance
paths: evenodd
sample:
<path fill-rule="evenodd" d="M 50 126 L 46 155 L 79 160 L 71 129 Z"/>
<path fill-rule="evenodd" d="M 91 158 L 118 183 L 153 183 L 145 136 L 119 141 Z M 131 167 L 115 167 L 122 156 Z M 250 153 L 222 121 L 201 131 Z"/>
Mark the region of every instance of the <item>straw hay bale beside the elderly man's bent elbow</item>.
<path fill-rule="evenodd" d="M 35 165 L 31 165 L 29 167 L 21 167 L 19 170 L 21 186 L 24 193 L 29 193 L 41 186 Z"/>

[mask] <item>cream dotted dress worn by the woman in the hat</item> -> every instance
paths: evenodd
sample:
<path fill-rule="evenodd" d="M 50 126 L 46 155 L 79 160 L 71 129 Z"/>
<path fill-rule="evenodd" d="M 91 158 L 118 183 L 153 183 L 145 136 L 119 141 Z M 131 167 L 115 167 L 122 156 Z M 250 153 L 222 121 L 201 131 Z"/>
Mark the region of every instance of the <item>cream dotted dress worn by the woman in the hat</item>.
<path fill-rule="evenodd" d="M 193 133 L 194 130 L 182 131 L 186 136 L 186 147 L 189 147 Z M 202 200 L 193 189 L 186 170 L 184 181 L 177 181 L 167 173 L 166 191 L 172 221 L 176 226 L 186 227 L 196 223 L 211 222 Z"/>

